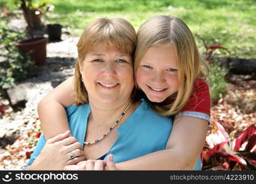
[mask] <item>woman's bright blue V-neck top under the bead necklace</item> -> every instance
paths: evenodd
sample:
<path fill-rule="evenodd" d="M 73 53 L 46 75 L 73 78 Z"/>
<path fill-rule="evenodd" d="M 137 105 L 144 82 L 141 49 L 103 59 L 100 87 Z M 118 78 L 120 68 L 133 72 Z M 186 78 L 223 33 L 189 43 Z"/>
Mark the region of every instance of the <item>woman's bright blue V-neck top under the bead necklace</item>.
<path fill-rule="evenodd" d="M 87 120 L 90 112 L 89 104 L 80 106 L 71 105 L 66 109 L 71 134 L 76 137 L 82 147 L 86 136 Z M 106 161 L 107 156 L 112 154 L 114 162 L 120 163 L 155 151 L 165 150 L 172 126 L 173 120 L 171 118 L 157 115 L 151 109 L 150 104 L 146 100 L 142 100 L 141 104 L 134 110 L 130 117 L 117 128 L 117 140 L 109 152 L 101 156 L 101 159 Z M 41 134 L 26 167 L 30 166 L 34 159 L 41 153 L 45 142 L 44 134 Z M 196 163 L 195 170 L 201 170 L 200 159 Z"/>

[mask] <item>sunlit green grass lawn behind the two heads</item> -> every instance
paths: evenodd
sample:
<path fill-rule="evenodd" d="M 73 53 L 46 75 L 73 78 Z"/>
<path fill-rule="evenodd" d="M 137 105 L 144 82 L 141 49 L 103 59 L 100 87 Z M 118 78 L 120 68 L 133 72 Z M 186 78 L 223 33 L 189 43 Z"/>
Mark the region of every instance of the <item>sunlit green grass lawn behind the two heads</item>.
<path fill-rule="evenodd" d="M 2 0 L 2 6 L 10 1 Z M 37 0 L 39 1 L 39 0 Z M 256 2 L 255 0 L 48 0 L 55 10 L 47 20 L 71 28 L 80 36 L 85 26 L 98 17 L 122 17 L 134 28 L 153 15 L 173 15 L 181 18 L 208 41 L 221 44 L 233 57 L 256 58 Z M 9 5 L 10 6 L 10 5 Z M 13 9 L 13 7 L 12 7 Z M 43 16 L 43 18 L 45 18 Z M 196 39 L 200 52 L 203 43 Z M 221 54 L 222 56 L 225 54 Z"/>

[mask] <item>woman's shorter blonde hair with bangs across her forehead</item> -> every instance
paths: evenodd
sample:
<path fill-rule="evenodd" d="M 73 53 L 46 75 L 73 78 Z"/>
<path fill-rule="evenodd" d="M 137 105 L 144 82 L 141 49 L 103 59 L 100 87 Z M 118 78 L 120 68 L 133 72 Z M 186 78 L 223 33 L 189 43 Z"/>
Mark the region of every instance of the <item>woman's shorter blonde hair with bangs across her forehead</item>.
<path fill-rule="evenodd" d="M 77 44 L 78 59 L 74 74 L 75 105 L 88 103 L 88 93 L 81 82 L 79 64 L 82 64 L 88 51 L 98 44 L 114 45 L 120 52 L 127 53 L 133 58 L 136 31 L 123 18 L 98 18 L 85 28 Z"/>

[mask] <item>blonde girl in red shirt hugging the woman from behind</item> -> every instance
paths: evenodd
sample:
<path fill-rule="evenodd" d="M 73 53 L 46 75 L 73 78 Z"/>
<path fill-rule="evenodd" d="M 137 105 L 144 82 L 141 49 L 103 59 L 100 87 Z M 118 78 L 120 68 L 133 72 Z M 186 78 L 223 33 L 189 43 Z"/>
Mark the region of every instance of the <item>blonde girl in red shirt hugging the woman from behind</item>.
<path fill-rule="evenodd" d="M 206 138 L 211 103 L 201 64 L 193 34 L 179 18 L 155 16 L 139 28 L 134 55 L 136 87 L 152 101 L 157 113 L 174 116 L 173 131 L 166 150 L 117 163 L 117 169 L 192 170 L 201 164 L 198 156 Z M 64 108 L 71 104 L 72 78 L 39 103 L 46 139 L 69 129 Z"/>

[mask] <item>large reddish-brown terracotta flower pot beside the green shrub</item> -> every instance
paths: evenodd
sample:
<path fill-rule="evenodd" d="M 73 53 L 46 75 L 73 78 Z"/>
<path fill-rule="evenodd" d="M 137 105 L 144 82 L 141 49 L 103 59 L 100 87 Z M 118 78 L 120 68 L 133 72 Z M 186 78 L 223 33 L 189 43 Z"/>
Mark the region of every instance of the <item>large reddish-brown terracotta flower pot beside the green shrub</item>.
<path fill-rule="evenodd" d="M 34 59 L 37 66 L 44 65 L 46 60 L 47 37 L 27 39 L 17 43 L 22 52 L 31 52 L 30 56 Z"/>

